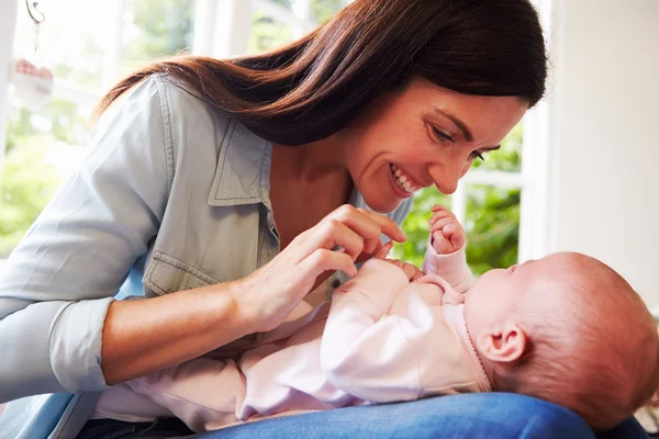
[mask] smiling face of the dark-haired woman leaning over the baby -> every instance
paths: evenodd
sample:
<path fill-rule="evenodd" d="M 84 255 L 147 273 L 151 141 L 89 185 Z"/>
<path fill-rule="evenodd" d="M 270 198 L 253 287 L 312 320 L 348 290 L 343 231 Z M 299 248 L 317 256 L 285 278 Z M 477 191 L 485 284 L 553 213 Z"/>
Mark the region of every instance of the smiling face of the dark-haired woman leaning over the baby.
<path fill-rule="evenodd" d="M 516 97 L 462 94 L 414 78 L 402 91 L 377 98 L 346 128 L 348 171 L 378 212 L 395 210 L 431 184 L 450 194 L 527 108 Z"/>

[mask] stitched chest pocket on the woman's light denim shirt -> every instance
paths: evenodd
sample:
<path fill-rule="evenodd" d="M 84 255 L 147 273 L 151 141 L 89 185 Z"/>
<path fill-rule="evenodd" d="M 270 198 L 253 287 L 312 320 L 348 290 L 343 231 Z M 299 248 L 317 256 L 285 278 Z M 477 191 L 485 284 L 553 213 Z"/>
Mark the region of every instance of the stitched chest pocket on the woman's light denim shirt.
<path fill-rule="evenodd" d="M 157 295 L 220 283 L 217 279 L 161 251 L 154 251 L 142 281 Z"/>

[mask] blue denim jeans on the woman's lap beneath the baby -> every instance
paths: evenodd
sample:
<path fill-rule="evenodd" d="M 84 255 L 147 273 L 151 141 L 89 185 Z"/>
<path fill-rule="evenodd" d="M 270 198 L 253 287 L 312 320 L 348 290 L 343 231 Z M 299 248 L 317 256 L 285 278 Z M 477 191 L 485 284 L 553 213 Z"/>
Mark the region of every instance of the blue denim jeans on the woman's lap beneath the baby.
<path fill-rule="evenodd" d="M 90 421 L 91 423 L 91 421 Z M 118 436 L 127 423 L 108 424 L 107 432 L 79 439 L 160 439 L 183 437 L 185 429 L 172 430 L 157 424 L 144 424 L 144 431 L 132 430 Z M 160 436 L 158 436 L 160 435 Z M 197 435 L 194 439 L 353 439 L 353 438 L 524 438 L 524 439 L 644 439 L 647 435 L 635 419 L 595 435 L 572 412 L 528 396 L 503 393 L 472 393 L 440 396 L 410 403 L 368 407 L 347 407 L 327 412 L 248 423 L 217 431 Z"/>

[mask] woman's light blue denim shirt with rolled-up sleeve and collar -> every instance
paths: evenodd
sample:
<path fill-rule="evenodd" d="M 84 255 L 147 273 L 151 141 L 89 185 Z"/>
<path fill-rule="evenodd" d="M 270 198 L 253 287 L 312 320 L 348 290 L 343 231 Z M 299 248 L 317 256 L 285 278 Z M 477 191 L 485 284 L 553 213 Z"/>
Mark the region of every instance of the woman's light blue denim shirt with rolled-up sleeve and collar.
<path fill-rule="evenodd" d="M 0 272 L 0 403 L 43 394 L 8 404 L 0 438 L 77 435 L 107 389 L 112 301 L 239 279 L 278 254 L 271 147 L 164 76 L 105 112 Z"/>

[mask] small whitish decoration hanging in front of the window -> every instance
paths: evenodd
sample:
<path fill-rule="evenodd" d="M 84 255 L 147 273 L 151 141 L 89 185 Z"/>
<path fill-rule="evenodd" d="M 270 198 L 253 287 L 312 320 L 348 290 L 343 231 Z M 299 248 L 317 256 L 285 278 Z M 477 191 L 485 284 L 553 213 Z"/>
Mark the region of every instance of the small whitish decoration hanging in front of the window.
<path fill-rule="evenodd" d="M 16 97 L 23 106 L 36 111 L 42 109 L 53 94 L 53 72 L 47 67 L 38 66 L 38 38 L 40 26 L 46 16 L 38 10 L 38 1 L 25 0 L 27 13 L 34 22 L 34 59 L 21 58 L 15 61 L 12 75 L 12 83 Z"/>

